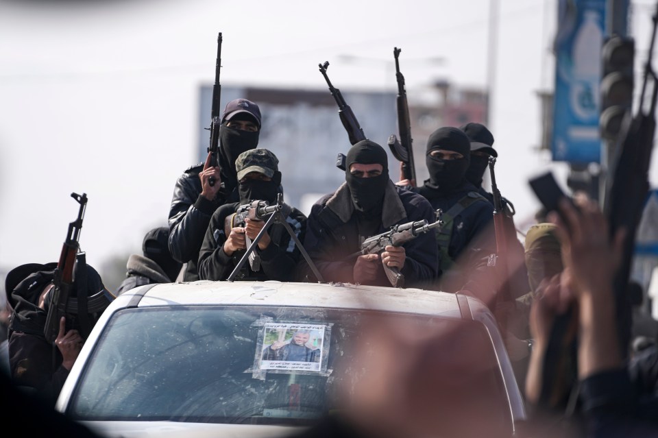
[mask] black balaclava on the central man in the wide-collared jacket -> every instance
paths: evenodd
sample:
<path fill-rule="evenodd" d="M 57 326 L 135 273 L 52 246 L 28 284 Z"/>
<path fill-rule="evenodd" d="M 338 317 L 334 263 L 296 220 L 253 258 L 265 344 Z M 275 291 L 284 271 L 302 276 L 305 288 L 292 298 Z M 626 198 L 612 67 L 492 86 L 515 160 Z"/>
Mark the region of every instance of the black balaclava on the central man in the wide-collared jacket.
<path fill-rule="evenodd" d="M 374 178 L 357 178 L 350 173 L 350 166 L 354 163 L 382 165 L 382 173 Z M 369 140 L 362 140 L 352 146 L 345 160 L 345 181 L 357 211 L 371 212 L 377 207 L 380 210 L 389 183 L 389 158 L 384 148 Z"/>

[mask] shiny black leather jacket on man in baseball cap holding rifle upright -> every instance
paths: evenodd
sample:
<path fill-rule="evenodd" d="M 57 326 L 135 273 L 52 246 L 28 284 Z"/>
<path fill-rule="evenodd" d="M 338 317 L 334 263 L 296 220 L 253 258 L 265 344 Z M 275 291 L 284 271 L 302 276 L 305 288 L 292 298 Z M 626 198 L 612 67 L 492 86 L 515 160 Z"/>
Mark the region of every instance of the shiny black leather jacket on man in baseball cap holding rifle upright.
<path fill-rule="evenodd" d="M 180 175 L 169 208 L 169 252 L 174 260 L 187 263 L 184 281 L 199 280 L 197 260 L 212 213 L 226 202 L 235 202 L 239 199 L 235 188 L 231 191 L 227 190 L 223 174 L 221 190 L 215 199 L 211 202 L 201 196 L 199 173 L 203 169 L 204 164 L 199 163 Z"/>

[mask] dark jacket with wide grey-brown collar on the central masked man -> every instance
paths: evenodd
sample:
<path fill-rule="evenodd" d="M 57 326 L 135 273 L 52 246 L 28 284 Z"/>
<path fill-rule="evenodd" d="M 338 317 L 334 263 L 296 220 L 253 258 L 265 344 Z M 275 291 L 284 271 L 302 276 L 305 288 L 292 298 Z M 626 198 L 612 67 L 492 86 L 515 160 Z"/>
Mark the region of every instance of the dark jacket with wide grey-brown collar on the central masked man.
<path fill-rule="evenodd" d="M 382 206 L 382 218 L 376 234 L 389 231 L 392 226 L 426 219 L 435 221 L 432 206 L 422 196 L 395 186 L 389 182 Z M 308 231 L 304 248 L 327 282 L 354 283 L 354 260 L 350 257 L 361 247 L 361 238 L 350 189 L 343 183 L 337 191 L 321 197 L 308 216 Z M 406 260 L 401 273 L 407 287 L 437 276 L 438 252 L 435 234 L 422 233 L 416 239 L 402 245 Z M 300 267 L 302 279 L 315 280 L 308 267 Z M 374 282 L 377 286 L 391 286 L 383 266 Z"/>

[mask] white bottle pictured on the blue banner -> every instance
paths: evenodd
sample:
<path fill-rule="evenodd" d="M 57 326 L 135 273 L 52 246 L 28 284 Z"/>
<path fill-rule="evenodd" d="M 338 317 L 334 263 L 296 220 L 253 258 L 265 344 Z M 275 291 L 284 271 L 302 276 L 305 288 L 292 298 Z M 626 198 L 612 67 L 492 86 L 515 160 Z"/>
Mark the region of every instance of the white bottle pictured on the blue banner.
<path fill-rule="evenodd" d="M 582 121 L 598 119 L 603 32 L 596 11 L 585 11 L 572 47 L 571 108 Z"/>

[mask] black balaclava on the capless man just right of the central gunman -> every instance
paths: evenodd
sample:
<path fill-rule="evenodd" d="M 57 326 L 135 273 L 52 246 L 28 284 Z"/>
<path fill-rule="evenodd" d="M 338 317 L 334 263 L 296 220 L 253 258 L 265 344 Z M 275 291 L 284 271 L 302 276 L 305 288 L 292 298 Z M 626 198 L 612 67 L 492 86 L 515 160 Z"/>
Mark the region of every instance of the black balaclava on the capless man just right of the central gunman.
<path fill-rule="evenodd" d="M 434 158 L 430 152 L 435 149 L 459 152 L 459 160 Z M 439 127 L 427 140 L 425 162 L 430 172 L 430 185 L 433 188 L 450 190 L 465 180 L 466 169 L 470 164 L 471 144 L 466 134 L 459 128 Z"/>

